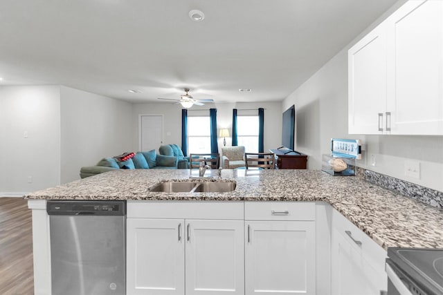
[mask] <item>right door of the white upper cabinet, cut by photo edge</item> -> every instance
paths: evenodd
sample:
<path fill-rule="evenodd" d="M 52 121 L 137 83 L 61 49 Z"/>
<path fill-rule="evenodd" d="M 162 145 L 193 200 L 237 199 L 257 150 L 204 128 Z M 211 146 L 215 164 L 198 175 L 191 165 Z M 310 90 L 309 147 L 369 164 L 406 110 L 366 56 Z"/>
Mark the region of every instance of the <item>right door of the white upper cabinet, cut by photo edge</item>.
<path fill-rule="evenodd" d="M 392 133 L 443 135 L 443 1 L 408 1 L 387 21 Z"/>

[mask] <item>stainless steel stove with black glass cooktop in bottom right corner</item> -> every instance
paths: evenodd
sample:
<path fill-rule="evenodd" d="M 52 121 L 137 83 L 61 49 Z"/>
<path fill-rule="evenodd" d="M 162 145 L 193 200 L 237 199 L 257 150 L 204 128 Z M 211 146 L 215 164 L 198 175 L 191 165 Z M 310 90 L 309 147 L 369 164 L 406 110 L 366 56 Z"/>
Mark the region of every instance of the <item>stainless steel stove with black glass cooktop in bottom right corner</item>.
<path fill-rule="evenodd" d="M 389 248 L 388 295 L 443 295 L 443 249 Z"/>

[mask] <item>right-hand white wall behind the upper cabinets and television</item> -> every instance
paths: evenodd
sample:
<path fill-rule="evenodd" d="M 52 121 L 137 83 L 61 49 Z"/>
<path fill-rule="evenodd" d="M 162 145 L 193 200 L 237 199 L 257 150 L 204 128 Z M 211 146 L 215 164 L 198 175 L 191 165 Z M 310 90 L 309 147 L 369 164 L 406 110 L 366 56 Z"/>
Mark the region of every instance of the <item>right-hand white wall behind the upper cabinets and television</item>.
<path fill-rule="evenodd" d="M 349 135 L 347 133 L 347 50 L 386 15 L 399 7 L 398 1 L 348 46 L 327 62 L 283 101 L 282 109 L 296 106 L 296 149 L 309 155 L 309 169 L 321 169 L 321 155 L 329 153 L 330 139 L 360 139 L 365 144 L 363 160 L 357 165 L 395 178 L 443 191 L 443 137 L 399 135 Z M 376 158 L 372 166 L 370 156 Z M 404 175 L 404 161 L 418 160 L 421 179 Z"/>

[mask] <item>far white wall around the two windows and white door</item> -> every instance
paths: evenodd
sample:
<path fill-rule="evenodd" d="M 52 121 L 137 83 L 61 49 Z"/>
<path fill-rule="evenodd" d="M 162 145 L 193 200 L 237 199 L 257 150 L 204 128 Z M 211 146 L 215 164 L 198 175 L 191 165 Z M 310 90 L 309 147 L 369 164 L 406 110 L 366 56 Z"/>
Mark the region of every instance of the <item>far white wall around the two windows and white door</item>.
<path fill-rule="evenodd" d="M 255 109 L 264 108 L 264 150 L 275 149 L 282 142 L 282 108 L 281 102 L 260 102 L 260 103 L 215 103 L 205 106 L 192 106 L 188 115 L 207 114 L 209 108 L 217 108 L 217 129 L 228 128 L 232 135 L 232 115 L 233 108 Z M 199 111 L 200 110 L 200 111 Z M 257 114 L 258 111 L 239 111 L 242 114 Z M 139 149 L 139 115 L 163 115 L 163 142 L 164 144 L 179 144 L 181 146 L 181 106 L 175 104 L 134 104 L 132 111 L 133 127 L 133 151 Z M 230 146 L 231 137 L 226 137 L 226 145 Z M 219 149 L 223 146 L 223 138 L 219 138 Z"/>

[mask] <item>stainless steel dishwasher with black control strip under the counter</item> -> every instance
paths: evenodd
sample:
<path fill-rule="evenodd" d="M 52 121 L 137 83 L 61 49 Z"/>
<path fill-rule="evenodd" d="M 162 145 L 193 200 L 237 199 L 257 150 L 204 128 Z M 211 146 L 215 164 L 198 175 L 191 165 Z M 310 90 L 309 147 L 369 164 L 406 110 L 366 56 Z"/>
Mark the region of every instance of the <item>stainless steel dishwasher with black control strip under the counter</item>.
<path fill-rule="evenodd" d="M 126 292 L 126 202 L 48 201 L 53 295 Z"/>

